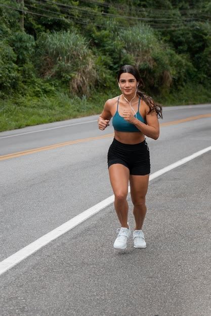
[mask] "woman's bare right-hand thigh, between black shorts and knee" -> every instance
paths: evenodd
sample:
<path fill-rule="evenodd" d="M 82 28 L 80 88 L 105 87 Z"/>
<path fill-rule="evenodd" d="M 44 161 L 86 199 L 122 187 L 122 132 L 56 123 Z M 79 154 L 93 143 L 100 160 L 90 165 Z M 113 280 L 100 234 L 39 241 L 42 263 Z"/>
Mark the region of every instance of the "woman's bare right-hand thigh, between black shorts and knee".
<path fill-rule="evenodd" d="M 145 200 L 149 184 L 149 175 L 130 175 L 131 198 L 133 204 L 138 204 Z"/>

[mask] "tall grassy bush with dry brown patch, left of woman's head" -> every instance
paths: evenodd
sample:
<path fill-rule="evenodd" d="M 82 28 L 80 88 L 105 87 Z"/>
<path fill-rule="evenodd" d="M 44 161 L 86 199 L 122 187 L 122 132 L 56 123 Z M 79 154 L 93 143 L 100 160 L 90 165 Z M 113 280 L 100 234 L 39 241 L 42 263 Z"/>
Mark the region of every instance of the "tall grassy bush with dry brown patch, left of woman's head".
<path fill-rule="evenodd" d="M 75 30 L 40 36 L 36 52 L 41 76 L 68 83 L 73 93 L 90 93 L 97 79 L 95 58 L 85 38 Z"/>

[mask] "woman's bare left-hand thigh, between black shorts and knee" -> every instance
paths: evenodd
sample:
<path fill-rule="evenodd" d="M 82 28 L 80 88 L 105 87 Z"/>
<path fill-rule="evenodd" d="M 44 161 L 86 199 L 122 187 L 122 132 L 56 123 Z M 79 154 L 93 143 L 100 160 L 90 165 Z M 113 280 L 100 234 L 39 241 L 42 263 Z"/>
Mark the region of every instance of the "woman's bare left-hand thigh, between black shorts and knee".
<path fill-rule="evenodd" d="M 113 164 L 109 167 L 109 177 L 115 195 L 127 195 L 130 171 L 121 164 Z"/>

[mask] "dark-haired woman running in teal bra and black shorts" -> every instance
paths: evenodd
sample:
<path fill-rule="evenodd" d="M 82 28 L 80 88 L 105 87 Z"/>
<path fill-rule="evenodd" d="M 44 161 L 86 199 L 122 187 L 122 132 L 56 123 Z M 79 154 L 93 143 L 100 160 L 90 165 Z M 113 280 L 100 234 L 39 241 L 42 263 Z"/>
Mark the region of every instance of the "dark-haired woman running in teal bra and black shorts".
<path fill-rule="evenodd" d="M 131 235 L 126 201 L 130 181 L 136 222 L 134 247 L 146 248 L 142 226 L 146 214 L 150 159 L 145 136 L 153 139 L 159 137 L 158 116 L 162 117 L 162 108 L 139 90 L 143 87 L 143 81 L 135 67 L 121 67 L 117 81 L 122 94 L 105 102 L 98 119 L 99 129 L 104 130 L 113 118 L 114 140 L 108 150 L 108 170 L 115 196 L 114 207 L 121 224 L 113 246 L 115 249 L 125 249 Z"/>

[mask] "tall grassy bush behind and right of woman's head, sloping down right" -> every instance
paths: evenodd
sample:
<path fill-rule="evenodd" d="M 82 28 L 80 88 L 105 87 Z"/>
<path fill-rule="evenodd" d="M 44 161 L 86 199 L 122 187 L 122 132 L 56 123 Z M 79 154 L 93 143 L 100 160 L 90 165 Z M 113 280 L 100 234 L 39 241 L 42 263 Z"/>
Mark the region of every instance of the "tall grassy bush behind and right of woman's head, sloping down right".
<path fill-rule="evenodd" d="M 148 89 L 163 93 L 170 88 L 183 86 L 196 76 L 189 57 L 177 54 L 164 44 L 150 26 L 140 24 L 119 36 L 124 41 L 126 52 L 133 55 Z"/>

